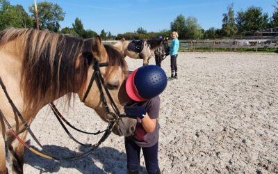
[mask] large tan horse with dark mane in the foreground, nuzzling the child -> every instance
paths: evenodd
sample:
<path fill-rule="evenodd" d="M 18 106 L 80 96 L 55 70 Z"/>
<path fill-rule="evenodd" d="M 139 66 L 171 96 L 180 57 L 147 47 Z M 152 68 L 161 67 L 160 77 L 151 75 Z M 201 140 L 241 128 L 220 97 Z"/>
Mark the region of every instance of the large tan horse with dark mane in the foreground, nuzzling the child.
<path fill-rule="evenodd" d="M 100 100 L 101 90 L 88 80 L 95 72 L 94 63 L 107 63 L 99 67 L 99 72 L 115 106 L 123 112 L 124 106 L 131 102 L 124 88 L 127 65 L 122 54 L 112 46 L 103 45 L 99 36 L 83 40 L 35 29 L 7 29 L 0 33 L 1 81 L 28 125 L 46 104 L 63 95 L 67 95 L 70 102 L 75 94 L 108 122 L 107 108 Z M 1 88 L 0 103 L 1 113 L 25 141 L 26 127 Z M 112 102 L 107 100 L 107 103 L 108 109 L 113 110 Z M 136 119 L 125 117 L 117 121 L 112 131 L 119 136 L 129 136 L 135 127 Z M 0 173 L 8 173 L 5 141 L 12 173 L 23 173 L 24 146 L 15 140 L 1 118 L 0 132 Z"/>

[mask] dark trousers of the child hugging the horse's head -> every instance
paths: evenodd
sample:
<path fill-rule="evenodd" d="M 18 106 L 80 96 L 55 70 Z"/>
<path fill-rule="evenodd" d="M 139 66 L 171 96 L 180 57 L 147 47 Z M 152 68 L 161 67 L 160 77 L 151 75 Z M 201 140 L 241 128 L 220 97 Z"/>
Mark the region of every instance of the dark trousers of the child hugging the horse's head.
<path fill-rule="evenodd" d="M 132 139 L 124 137 L 124 145 L 126 148 L 127 168 L 130 171 L 136 171 L 140 167 L 140 151 L 138 146 Z M 145 164 L 148 173 L 155 173 L 158 169 L 158 142 L 152 147 L 142 148 Z"/>

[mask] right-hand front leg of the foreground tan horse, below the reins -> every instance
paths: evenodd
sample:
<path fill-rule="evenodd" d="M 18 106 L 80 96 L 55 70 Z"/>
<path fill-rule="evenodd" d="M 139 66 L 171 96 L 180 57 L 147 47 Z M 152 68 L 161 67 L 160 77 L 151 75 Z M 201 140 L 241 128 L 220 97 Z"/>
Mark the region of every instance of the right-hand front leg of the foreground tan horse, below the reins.
<path fill-rule="evenodd" d="M 27 131 L 18 134 L 20 139 L 25 142 Z M 24 145 L 19 143 L 15 136 L 7 136 L 8 150 L 10 155 L 10 165 L 12 166 L 12 173 L 23 173 L 24 164 Z"/>

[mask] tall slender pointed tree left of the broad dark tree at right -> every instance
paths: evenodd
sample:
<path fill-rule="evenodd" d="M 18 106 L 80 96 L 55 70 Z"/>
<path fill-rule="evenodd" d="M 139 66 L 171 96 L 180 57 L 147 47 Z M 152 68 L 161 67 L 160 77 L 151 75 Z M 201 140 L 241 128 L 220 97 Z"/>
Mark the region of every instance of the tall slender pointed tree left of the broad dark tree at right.
<path fill-rule="evenodd" d="M 229 38 L 234 38 L 237 32 L 236 28 L 236 20 L 234 18 L 234 4 L 232 3 L 231 5 L 228 6 L 227 8 L 228 13 L 223 14 L 223 19 L 222 19 L 222 31 L 225 36 Z"/>

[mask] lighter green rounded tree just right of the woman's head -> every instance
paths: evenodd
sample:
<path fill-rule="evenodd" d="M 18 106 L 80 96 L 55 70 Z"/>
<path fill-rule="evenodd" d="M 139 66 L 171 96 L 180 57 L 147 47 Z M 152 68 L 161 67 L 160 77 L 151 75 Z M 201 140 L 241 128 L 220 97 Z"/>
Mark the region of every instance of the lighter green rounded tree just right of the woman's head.
<path fill-rule="evenodd" d="M 186 39 L 202 39 L 203 38 L 203 29 L 197 23 L 196 17 L 188 17 L 186 18 L 186 26 L 185 26 L 185 38 Z"/>

